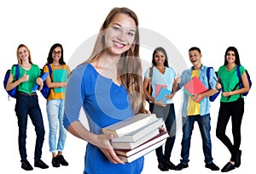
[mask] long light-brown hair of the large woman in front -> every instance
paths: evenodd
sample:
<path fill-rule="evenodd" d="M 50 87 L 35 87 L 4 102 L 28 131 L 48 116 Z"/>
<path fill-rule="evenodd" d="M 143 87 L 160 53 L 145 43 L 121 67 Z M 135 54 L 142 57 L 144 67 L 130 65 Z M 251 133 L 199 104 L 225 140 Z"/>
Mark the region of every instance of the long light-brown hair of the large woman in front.
<path fill-rule="evenodd" d="M 138 26 L 137 14 L 135 14 L 129 8 L 113 8 L 106 20 L 103 22 L 99 34 L 96 38 L 96 42 L 89 59 L 87 59 L 84 64 L 95 61 L 102 54 L 105 46 L 105 37 L 103 35 L 104 31 L 108 29 L 108 25 L 113 20 L 116 14 L 126 14 L 130 16 Z M 117 65 L 117 74 L 124 84 L 127 92 L 129 93 L 131 109 L 133 114 L 144 113 L 145 112 L 145 96 L 143 92 L 143 70 L 142 63 L 139 56 L 139 31 L 138 27 L 135 32 L 134 42 L 131 44 L 131 48 L 125 53 L 121 54 L 119 63 Z"/>

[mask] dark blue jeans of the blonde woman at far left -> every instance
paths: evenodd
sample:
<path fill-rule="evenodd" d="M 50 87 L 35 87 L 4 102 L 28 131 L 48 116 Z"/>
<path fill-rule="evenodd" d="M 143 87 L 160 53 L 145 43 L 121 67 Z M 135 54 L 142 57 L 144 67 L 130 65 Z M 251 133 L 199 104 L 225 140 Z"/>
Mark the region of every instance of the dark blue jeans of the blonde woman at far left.
<path fill-rule="evenodd" d="M 37 94 L 29 95 L 26 93 L 18 93 L 15 104 L 15 112 L 18 118 L 19 126 L 19 150 L 21 160 L 26 160 L 26 128 L 27 115 L 29 115 L 36 131 L 36 146 L 34 159 L 39 160 L 42 156 L 42 148 L 44 143 L 44 122 L 41 109 L 38 104 Z"/>

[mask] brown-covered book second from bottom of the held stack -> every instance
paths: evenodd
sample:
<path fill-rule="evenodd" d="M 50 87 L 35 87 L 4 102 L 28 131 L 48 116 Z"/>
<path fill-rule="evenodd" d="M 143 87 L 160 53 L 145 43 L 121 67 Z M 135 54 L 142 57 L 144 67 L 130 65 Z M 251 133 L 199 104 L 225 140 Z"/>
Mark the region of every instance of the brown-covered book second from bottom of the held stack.
<path fill-rule="evenodd" d="M 134 154 L 137 154 L 138 152 L 143 151 L 143 149 L 156 149 L 153 148 L 152 146 L 154 146 L 155 143 L 158 143 L 160 141 L 166 141 L 166 138 L 169 138 L 169 133 L 168 132 L 160 132 L 157 136 L 155 136 L 154 138 L 149 139 L 147 142 L 141 144 L 140 146 L 138 146 L 136 149 L 115 149 L 115 153 L 120 155 L 120 156 L 124 156 L 124 157 L 129 157 L 129 156 L 133 156 Z M 154 146 L 155 147 L 155 146 Z"/>

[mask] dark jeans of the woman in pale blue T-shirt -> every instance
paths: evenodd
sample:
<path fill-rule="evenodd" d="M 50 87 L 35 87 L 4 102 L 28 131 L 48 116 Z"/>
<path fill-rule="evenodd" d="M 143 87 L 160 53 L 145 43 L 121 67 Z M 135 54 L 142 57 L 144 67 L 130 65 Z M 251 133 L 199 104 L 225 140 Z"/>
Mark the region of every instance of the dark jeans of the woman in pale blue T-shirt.
<path fill-rule="evenodd" d="M 176 115 L 174 110 L 174 104 L 166 104 L 166 107 L 162 107 L 150 103 L 149 110 L 151 113 L 154 113 L 158 118 L 163 118 L 166 125 L 166 131 L 169 132 L 170 135 L 170 138 L 166 138 L 164 154 L 162 146 L 155 149 L 157 160 L 159 162 L 170 160 L 176 138 Z"/>

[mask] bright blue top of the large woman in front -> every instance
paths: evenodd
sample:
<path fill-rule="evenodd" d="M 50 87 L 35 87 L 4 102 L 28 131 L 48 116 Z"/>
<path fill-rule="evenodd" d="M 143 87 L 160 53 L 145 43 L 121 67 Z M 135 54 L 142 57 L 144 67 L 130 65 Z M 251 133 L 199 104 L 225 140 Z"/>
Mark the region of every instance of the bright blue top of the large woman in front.
<path fill-rule="evenodd" d="M 101 134 L 102 127 L 122 121 L 132 115 L 127 90 L 116 85 L 112 79 L 101 76 L 90 64 L 79 65 L 69 77 L 66 89 L 64 126 L 83 118 L 89 123 L 90 132 Z M 141 157 L 131 163 L 112 164 L 102 151 L 87 143 L 84 157 L 84 171 L 87 173 L 139 174 L 143 171 Z"/>

